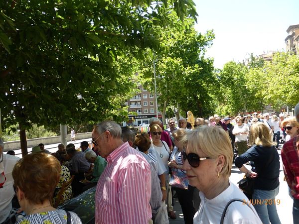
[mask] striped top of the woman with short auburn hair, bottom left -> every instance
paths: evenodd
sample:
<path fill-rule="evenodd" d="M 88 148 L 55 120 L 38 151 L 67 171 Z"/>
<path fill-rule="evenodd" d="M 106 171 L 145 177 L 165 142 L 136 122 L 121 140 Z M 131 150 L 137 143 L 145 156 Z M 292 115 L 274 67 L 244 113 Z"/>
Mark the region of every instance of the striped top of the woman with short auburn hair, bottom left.
<path fill-rule="evenodd" d="M 77 214 L 69 213 L 71 215 L 71 224 L 82 224 Z M 15 224 L 66 224 L 66 221 L 67 214 L 64 210 L 54 210 L 25 216 Z"/>

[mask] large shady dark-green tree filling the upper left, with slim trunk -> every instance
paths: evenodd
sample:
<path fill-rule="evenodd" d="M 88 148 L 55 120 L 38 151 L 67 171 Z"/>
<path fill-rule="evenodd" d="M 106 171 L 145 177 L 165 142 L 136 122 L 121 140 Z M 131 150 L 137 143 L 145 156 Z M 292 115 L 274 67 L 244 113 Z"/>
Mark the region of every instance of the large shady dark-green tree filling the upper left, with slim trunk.
<path fill-rule="evenodd" d="M 3 0 L 0 10 L 2 124 L 19 124 L 23 155 L 34 123 L 125 116 L 134 62 L 159 46 L 152 26 L 196 15 L 192 0 Z"/>

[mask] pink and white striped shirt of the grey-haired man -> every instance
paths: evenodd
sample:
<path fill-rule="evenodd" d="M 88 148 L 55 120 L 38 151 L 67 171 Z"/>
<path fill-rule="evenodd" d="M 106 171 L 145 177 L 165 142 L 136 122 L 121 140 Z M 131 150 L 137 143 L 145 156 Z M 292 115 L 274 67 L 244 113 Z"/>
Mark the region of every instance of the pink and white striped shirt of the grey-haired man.
<path fill-rule="evenodd" d="M 150 167 L 125 142 L 107 157 L 96 191 L 96 224 L 148 224 L 151 219 Z"/>

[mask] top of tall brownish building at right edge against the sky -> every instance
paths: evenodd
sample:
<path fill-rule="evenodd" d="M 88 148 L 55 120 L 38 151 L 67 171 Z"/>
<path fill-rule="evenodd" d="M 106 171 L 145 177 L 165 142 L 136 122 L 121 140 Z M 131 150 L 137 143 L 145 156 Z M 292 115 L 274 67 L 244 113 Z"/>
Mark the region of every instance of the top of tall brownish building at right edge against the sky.
<path fill-rule="evenodd" d="M 299 24 L 289 26 L 287 32 L 288 36 L 285 39 L 286 50 L 297 54 L 299 49 Z"/>

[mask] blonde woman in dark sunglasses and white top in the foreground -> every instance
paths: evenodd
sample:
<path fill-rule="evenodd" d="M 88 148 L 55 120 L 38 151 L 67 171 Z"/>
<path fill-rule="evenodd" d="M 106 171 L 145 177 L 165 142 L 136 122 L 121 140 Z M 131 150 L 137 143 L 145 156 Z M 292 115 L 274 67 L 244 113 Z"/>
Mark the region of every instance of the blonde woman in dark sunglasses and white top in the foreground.
<path fill-rule="evenodd" d="M 231 141 L 219 127 L 201 126 L 182 139 L 183 170 L 191 186 L 200 192 L 201 204 L 193 218 L 194 224 L 219 224 L 221 215 L 232 199 L 248 200 L 230 180 L 233 153 Z M 261 224 L 252 205 L 232 202 L 224 217 L 225 224 Z"/>

